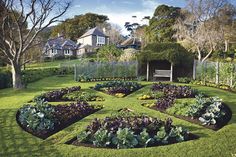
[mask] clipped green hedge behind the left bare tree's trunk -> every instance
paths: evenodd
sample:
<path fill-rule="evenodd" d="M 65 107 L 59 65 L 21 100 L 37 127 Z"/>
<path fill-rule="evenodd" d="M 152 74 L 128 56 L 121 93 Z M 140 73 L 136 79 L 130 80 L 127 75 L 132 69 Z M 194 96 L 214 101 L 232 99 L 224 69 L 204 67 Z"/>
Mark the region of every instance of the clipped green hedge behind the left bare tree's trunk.
<path fill-rule="evenodd" d="M 68 75 L 73 74 L 73 68 L 44 68 L 44 69 L 28 69 L 22 72 L 23 82 L 27 85 L 38 81 L 42 78 L 53 75 Z M 9 88 L 12 86 L 12 75 L 9 70 L 0 71 L 0 89 Z"/>

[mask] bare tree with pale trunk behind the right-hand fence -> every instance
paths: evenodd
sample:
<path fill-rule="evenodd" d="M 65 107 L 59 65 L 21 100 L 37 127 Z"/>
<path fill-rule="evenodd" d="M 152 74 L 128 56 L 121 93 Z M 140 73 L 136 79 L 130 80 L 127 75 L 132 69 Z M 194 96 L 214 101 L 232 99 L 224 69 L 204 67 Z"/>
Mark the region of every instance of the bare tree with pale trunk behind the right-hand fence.
<path fill-rule="evenodd" d="M 222 43 L 218 16 L 227 4 L 227 0 L 188 0 L 187 9 L 177 20 L 175 37 L 192 43 L 198 60 L 206 60 Z"/>

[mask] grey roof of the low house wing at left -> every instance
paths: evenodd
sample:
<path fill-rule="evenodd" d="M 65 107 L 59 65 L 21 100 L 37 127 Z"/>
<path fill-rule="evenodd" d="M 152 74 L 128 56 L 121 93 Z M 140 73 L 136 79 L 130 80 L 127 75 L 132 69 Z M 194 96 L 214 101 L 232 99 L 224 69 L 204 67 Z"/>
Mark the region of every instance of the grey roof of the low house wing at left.
<path fill-rule="evenodd" d="M 63 36 L 59 36 L 53 39 L 49 39 L 46 43 L 46 47 L 56 48 L 56 49 L 76 49 L 77 44 L 70 39 L 65 39 Z"/>

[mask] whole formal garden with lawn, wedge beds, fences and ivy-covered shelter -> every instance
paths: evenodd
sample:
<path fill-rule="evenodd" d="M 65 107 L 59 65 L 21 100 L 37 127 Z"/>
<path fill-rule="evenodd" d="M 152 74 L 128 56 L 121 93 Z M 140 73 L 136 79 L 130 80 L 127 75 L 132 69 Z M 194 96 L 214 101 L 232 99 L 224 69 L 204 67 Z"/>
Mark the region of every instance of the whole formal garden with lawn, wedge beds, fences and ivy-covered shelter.
<path fill-rule="evenodd" d="M 189 62 L 181 63 L 183 55 Z M 176 82 L 159 82 L 152 73 L 161 60 L 174 70 L 193 68 L 195 80 L 178 70 L 171 74 Z M 180 45 L 151 44 L 136 61 L 26 69 L 27 88 L 0 90 L 1 156 L 230 156 L 236 145 L 232 68 L 228 74 L 223 66 L 210 71 L 194 64 Z M 209 79 L 217 76 L 219 82 Z M 232 80 L 220 81 L 225 77 Z"/>

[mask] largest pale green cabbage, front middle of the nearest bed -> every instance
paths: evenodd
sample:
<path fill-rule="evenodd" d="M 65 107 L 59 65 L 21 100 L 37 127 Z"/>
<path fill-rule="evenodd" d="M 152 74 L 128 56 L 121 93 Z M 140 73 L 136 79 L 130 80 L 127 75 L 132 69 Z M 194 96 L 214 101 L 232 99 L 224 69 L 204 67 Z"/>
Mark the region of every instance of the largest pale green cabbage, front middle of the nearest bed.
<path fill-rule="evenodd" d="M 116 136 L 112 138 L 112 143 L 116 145 L 118 149 L 134 148 L 138 145 L 138 140 L 136 139 L 134 132 L 129 128 L 119 128 Z"/>

